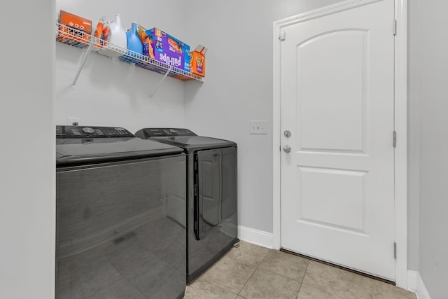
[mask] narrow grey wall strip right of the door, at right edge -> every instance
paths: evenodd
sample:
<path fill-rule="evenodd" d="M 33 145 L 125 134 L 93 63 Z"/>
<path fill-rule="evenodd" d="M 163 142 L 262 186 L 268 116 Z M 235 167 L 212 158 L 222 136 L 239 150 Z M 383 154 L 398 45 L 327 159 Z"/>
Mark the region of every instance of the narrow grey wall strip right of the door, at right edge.
<path fill-rule="evenodd" d="M 448 281 L 448 2 L 420 0 L 419 272 L 433 299 Z"/>

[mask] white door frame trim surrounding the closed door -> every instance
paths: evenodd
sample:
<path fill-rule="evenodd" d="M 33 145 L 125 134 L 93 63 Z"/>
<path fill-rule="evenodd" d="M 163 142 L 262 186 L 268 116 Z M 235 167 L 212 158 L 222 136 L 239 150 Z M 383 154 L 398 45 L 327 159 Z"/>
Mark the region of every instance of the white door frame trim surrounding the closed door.
<path fill-rule="evenodd" d="M 273 194 L 272 245 L 281 248 L 281 29 L 324 15 L 382 0 L 346 0 L 274 22 L 273 28 Z M 395 284 L 407 288 L 407 0 L 395 0 L 395 104 L 394 127 L 397 132 L 394 151 L 395 184 Z M 393 34 L 391 20 L 391 34 Z M 392 142 L 392 141 L 391 141 Z M 391 250 L 392 247 L 391 247 Z"/>

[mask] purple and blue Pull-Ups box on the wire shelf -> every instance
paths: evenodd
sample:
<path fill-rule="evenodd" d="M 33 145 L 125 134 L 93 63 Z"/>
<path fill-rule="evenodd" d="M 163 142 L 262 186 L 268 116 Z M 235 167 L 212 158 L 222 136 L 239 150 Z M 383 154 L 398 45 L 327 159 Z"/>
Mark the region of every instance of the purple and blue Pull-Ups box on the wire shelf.
<path fill-rule="evenodd" d="M 148 29 L 146 34 L 150 38 L 155 60 L 190 72 L 190 46 L 158 28 Z"/>

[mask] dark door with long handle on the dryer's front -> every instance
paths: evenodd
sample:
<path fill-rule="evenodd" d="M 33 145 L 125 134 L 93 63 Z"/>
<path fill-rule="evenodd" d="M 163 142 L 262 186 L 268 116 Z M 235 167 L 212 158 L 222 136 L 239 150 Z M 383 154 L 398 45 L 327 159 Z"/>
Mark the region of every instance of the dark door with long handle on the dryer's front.
<path fill-rule="evenodd" d="M 237 148 L 195 154 L 195 236 L 202 239 L 237 209 Z"/>

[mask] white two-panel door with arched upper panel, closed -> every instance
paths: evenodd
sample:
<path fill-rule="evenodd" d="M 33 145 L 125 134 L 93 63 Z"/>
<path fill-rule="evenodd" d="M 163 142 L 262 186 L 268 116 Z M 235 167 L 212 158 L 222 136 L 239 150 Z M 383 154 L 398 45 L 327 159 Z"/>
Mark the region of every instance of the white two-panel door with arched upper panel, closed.
<path fill-rule="evenodd" d="M 393 19 L 381 0 L 283 27 L 281 42 L 281 246 L 391 280 Z"/>

